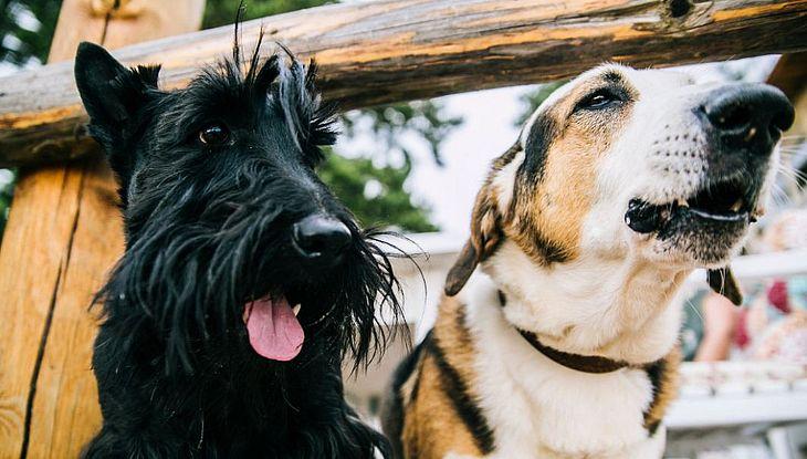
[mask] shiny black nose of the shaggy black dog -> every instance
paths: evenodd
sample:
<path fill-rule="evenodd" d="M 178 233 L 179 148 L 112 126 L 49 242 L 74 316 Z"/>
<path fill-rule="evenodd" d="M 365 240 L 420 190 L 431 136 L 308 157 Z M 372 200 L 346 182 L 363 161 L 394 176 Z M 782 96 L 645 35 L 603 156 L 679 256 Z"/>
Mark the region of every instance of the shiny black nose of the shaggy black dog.
<path fill-rule="evenodd" d="M 293 238 L 304 257 L 336 262 L 350 243 L 352 234 L 342 221 L 316 213 L 294 223 Z"/>

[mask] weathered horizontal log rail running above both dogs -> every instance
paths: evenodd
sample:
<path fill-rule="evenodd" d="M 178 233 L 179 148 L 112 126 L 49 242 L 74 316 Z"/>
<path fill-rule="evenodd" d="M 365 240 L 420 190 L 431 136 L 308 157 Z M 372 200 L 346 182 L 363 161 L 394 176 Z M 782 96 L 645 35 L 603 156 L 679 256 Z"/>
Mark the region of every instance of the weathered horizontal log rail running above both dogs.
<path fill-rule="evenodd" d="M 606 60 L 672 65 L 807 49 L 807 0 L 386 0 L 321 7 L 263 24 L 323 67 L 344 108 L 569 76 Z M 126 48 L 182 86 L 227 54 L 232 28 Z M 269 46 L 268 46 L 269 48 Z M 266 50 L 270 52 L 271 50 Z M 0 80 L 0 165 L 75 157 L 84 114 L 70 63 Z"/>

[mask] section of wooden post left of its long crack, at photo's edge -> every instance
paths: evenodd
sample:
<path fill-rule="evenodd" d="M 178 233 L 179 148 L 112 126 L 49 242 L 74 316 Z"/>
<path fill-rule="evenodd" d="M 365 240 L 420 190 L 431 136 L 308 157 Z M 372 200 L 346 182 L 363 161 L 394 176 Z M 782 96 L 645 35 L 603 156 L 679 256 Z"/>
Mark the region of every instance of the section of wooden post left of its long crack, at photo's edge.
<path fill-rule="evenodd" d="M 78 210 L 81 174 L 24 174 L 0 249 L 0 457 L 19 458 L 64 249 Z M 45 210 L 46 209 L 46 210 Z"/>

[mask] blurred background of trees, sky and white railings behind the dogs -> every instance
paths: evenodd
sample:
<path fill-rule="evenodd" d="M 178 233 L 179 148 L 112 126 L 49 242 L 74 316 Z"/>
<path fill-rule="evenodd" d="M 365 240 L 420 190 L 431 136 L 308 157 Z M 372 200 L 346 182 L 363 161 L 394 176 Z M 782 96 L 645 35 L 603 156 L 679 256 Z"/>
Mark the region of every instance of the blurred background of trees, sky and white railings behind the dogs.
<path fill-rule="evenodd" d="M 245 18 L 329 3 L 252 0 Z M 0 0 L 0 75 L 42 65 L 61 0 Z M 229 24 L 238 1 L 208 0 L 203 28 Z M 699 81 L 766 81 L 777 56 L 681 67 Z M 464 241 L 490 160 L 563 82 L 458 94 L 352 111 L 319 174 L 365 226 L 404 232 L 416 254 L 396 263 L 412 341 L 428 331 L 446 271 Z M 689 363 L 667 424 L 670 458 L 807 458 L 807 92 L 783 140 L 774 199 L 734 264 L 745 304 L 710 294 L 695 273 L 687 289 L 681 343 Z M 15 171 L 0 169 L 0 237 Z M 405 336 L 399 333 L 398 336 Z M 369 417 L 406 354 L 399 340 L 368 372 L 349 375 L 353 401 Z"/>

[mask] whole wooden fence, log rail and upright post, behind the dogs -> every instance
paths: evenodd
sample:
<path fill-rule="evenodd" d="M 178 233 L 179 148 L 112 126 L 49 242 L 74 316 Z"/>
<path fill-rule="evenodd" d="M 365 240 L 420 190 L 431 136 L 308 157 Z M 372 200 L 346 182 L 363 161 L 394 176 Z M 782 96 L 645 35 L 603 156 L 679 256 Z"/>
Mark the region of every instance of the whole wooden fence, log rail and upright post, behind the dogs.
<path fill-rule="evenodd" d="M 230 27 L 192 32 L 202 10 L 203 0 L 64 0 L 51 63 L 0 79 L 0 166 L 20 167 L 0 249 L 0 458 L 75 457 L 99 425 L 87 305 L 123 242 L 70 60 L 93 41 L 128 63 L 163 63 L 164 86 L 180 87 L 232 45 Z M 261 27 L 316 58 L 326 96 L 354 108 L 545 82 L 607 60 L 805 51 L 807 0 L 386 0 L 251 21 L 245 46 Z M 798 64 L 783 72 L 793 82 Z"/>

